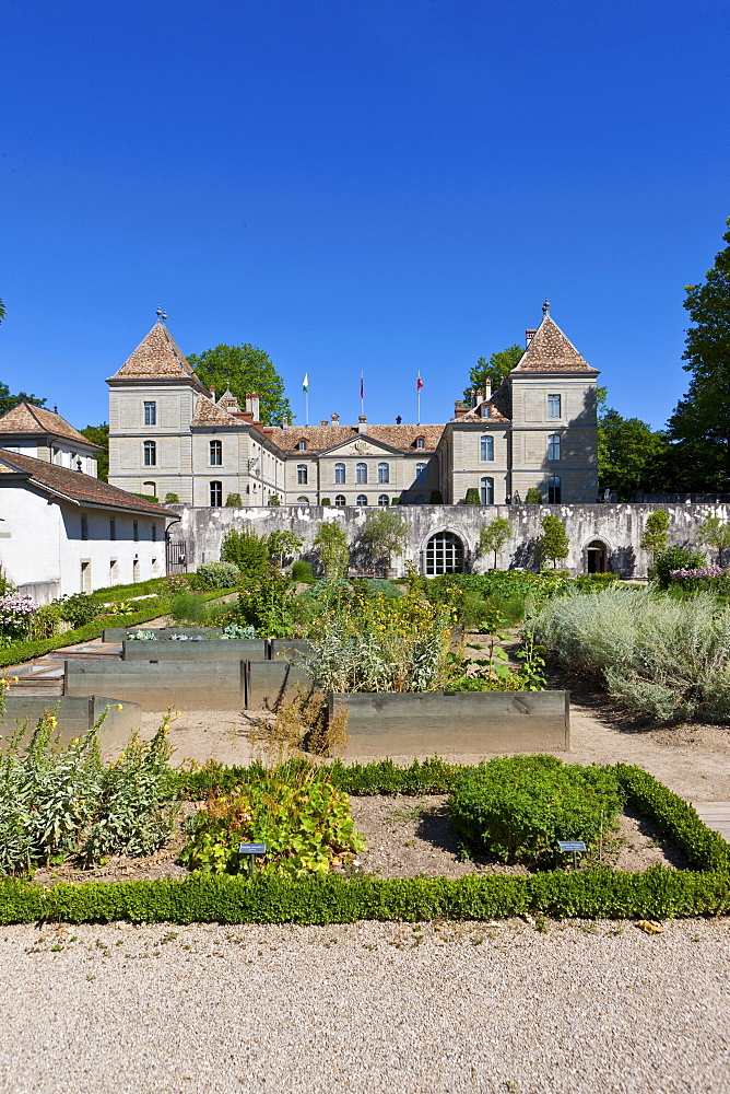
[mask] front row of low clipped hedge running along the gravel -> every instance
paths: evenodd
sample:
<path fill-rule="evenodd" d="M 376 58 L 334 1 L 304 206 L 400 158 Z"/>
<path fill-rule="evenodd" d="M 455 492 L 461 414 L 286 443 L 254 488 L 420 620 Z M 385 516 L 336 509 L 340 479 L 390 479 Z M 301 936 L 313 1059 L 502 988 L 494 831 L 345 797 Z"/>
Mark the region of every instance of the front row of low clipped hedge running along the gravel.
<path fill-rule="evenodd" d="M 652 866 L 514 877 L 353 877 L 197 874 L 184 881 L 0 882 L 0 923 L 132 920 L 148 923 L 353 923 L 544 915 L 585 919 L 674 918 L 730 911 L 727 871 Z"/>

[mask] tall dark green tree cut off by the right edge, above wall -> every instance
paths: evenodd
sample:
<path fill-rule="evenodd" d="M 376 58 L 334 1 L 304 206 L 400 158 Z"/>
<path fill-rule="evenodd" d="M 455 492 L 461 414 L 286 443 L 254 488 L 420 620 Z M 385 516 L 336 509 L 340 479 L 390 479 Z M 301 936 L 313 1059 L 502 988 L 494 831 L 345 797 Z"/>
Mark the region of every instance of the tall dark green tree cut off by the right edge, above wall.
<path fill-rule="evenodd" d="M 669 419 L 672 462 L 685 488 L 727 490 L 730 480 L 730 218 L 703 284 L 688 284 L 687 329 L 682 360 L 690 387 Z"/>

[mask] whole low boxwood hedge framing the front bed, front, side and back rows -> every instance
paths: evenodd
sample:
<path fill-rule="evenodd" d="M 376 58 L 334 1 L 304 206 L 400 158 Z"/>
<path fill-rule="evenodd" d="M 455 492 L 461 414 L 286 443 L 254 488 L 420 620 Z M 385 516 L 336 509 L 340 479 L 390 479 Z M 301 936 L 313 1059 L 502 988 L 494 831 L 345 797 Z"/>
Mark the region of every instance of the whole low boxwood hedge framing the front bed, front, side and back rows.
<path fill-rule="evenodd" d="M 463 772 L 436 758 L 410 768 L 385 760 L 352 767 L 332 764 L 330 770 L 333 781 L 351 793 L 367 787 L 368 793 L 416 794 L 449 790 Z M 538 913 L 587 919 L 729 913 L 730 845 L 646 771 L 623 764 L 614 771 L 627 800 L 684 851 L 691 869 L 652 866 L 645 873 L 623 873 L 597 868 L 578 873 L 543 871 L 530 877 L 495 874 L 458 880 L 330 875 L 292 881 L 275 875 L 248 880 L 205 874 L 184 881 L 86 882 L 49 888 L 5 878 L 0 882 L 0 922 L 348 923 Z M 216 768 L 215 772 L 217 789 L 223 782 L 229 787 L 254 778 L 256 767 Z M 180 777 L 181 793 L 193 790 L 191 779 Z"/>

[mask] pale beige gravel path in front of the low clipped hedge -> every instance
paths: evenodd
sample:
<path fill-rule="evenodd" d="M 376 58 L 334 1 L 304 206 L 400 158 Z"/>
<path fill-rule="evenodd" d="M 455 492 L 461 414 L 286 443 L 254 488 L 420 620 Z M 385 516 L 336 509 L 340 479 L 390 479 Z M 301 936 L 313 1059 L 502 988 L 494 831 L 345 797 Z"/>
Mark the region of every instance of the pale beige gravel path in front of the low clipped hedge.
<path fill-rule="evenodd" d="M 663 928 L 0 928 L 0 1091 L 730 1092 L 730 919 Z"/>

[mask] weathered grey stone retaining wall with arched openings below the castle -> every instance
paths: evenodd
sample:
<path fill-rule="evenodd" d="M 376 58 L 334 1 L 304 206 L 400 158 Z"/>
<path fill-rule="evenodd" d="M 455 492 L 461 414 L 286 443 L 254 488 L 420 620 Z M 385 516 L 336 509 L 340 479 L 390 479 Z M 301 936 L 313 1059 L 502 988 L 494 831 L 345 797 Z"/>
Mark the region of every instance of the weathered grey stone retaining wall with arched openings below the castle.
<path fill-rule="evenodd" d="M 279 508 L 250 509 L 190 509 L 170 507 L 181 516 L 179 524 L 169 529 L 170 538 L 185 540 L 188 569 L 201 562 L 220 558 L 221 542 L 228 528 L 254 529 L 258 535 L 274 528 L 286 528 L 304 537 L 303 557 L 307 558 L 311 542 L 322 521 L 334 521 L 346 529 L 353 549 L 353 562 L 367 565 L 358 545 L 360 534 L 372 509 L 321 505 L 282 505 Z M 715 505 L 403 505 L 400 513 L 411 528 L 411 542 L 400 559 L 399 569 L 407 560 L 424 570 L 425 547 L 436 532 L 455 533 L 464 545 L 466 567 L 469 572 L 481 573 L 493 566 L 492 555 L 479 551 L 479 534 L 483 525 L 497 516 L 506 516 L 513 527 L 513 539 L 499 556 L 501 569 L 533 568 L 538 565 L 535 539 L 541 534 L 540 520 L 548 513 L 565 522 L 570 539 L 570 555 L 566 568 L 575 573 L 587 572 L 587 547 L 599 542 L 605 546 L 609 569 L 624 578 L 646 577 L 649 557 L 639 543 L 649 513 L 664 509 L 670 516 L 670 543 L 692 546 L 696 542 L 697 526 L 708 514 L 730 521 L 730 504 Z"/>

